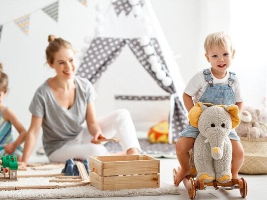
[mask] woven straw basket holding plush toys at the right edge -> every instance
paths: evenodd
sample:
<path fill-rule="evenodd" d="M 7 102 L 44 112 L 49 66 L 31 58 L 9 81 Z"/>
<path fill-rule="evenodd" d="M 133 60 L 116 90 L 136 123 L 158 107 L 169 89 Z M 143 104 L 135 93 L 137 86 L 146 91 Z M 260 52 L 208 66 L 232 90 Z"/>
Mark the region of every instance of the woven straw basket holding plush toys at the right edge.
<path fill-rule="evenodd" d="M 240 137 L 245 151 L 245 160 L 239 173 L 267 174 L 267 139 Z"/>

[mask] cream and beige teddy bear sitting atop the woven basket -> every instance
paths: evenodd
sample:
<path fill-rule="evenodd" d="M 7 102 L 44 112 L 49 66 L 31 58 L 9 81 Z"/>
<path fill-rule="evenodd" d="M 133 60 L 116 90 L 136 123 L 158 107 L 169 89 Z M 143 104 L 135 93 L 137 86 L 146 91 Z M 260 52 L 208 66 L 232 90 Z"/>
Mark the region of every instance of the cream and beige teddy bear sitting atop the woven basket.
<path fill-rule="evenodd" d="M 240 114 L 241 122 L 236 128 L 238 136 L 246 138 L 247 134 L 250 133 L 251 138 L 263 137 L 265 130 L 259 121 L 261 115 L 262 112 L 259 109 L 244 107 Z"/>

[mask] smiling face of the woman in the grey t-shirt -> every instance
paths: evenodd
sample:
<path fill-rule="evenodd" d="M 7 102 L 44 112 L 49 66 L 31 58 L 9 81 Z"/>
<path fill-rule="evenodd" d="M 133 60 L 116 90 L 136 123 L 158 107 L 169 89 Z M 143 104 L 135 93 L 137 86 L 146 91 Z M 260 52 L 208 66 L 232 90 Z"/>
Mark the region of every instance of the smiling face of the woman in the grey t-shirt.
<path fill-rule="evenodd" d="M 76 64 L 74 61 L 74 52 L 72 49 L 61 48 L 54 55 L 54 62 L 48 64 L 50 65 L 50 67 L 56 70 L 57 76 L 59 78 L 73 78 Z"/>

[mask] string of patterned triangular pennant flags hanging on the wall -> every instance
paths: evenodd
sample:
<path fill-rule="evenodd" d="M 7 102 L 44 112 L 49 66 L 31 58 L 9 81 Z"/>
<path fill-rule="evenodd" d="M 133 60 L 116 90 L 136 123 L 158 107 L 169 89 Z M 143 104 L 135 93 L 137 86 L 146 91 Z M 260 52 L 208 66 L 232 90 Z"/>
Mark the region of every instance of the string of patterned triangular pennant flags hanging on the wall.
<path fill-rule="evenodd" d="M 82 5 L 87 6 L 87 0 L 78 0 L 78 1 Z M 45 7 L 42 7 L 38 10 L 35 10 L 35 11 L 39 11 L 39 10 L 42 10 L 49 17 L 51 17 L 53 20 L 58 22 L 58 20 L 59 20 L 59 0 L 47 5 Z M 35 12 L 35 11 L 33 11 L 33 12 Z M 31 13 L 33 13 L 33 12 L 31 12 Z M 28 13 L 27 15 L 18 17 L 16 19 L 14 19 L 13 21 L 11 21 L 11 22 L 15 23 L 18 26 L 18 28 L 21 29 L 21 31 L 23 31 L 23 33 L 25 33 L 26 35 L 29 34 L 30 14 L 31 13 Z M 0 24 L 0 40 L 1 40 L 1 33 L 3 31 L 4 24 L 7 24 L 7 23 Z"/>

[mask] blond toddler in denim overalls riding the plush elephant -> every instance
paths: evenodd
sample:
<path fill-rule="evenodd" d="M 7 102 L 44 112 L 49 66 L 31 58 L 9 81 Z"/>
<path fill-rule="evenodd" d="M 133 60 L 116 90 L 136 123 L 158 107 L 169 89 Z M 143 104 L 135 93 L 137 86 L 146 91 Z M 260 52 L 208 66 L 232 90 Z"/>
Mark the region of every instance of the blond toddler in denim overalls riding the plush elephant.
<path fill-rule="evenodd" d="M 187 84 L 184 93 L 184 105 L 189 112 L 198 101 L 213 105 L 236 104 L 239 112 L 243 108 L 243 99 L 240 84 L 235 73 L 228 71 L 235 55 L 231 38 L 224 31 L 214 32 L 206 37 L 205 57 L 211 67 L 198 72 Z M 181 180 L 190 174 L 189 150 L 193 147 L 199 130 L 187 125 L 181 132 L 176 143 L 176 154 L 180 164 L 180 171 L 175 175 L 174 184 L 179 185 Z M 235 130 L 229 134 L 233 146 L 232 175 L 238 178 L 244 161 L 244 149 Z"/>

